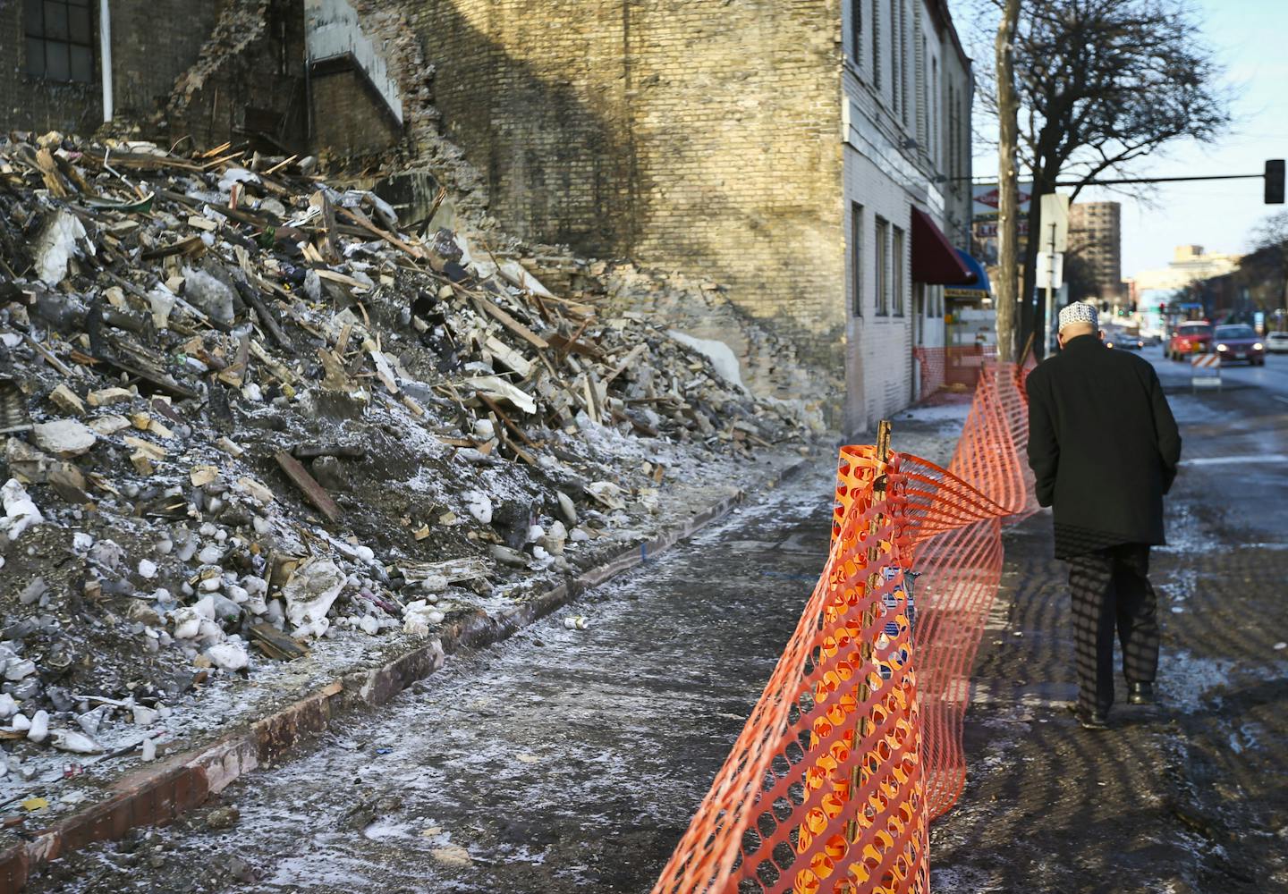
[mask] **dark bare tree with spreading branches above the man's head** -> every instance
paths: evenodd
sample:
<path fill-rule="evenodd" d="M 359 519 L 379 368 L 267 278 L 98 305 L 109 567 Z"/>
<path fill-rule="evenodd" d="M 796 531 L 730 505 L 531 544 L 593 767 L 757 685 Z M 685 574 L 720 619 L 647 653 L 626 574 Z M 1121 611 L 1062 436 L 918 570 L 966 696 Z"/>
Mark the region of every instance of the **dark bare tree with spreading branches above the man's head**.
<path fill-rule="evenodd" d="M 990 0 L 1001 6 L 1010 0 Z M 1212 140 L 1230 121 L 1220 70 L 1185 0 L 1024 0 L 1015 43 L 1023 161 L 1033 196 L 1096 178 L 1181 139 Z M 997 90 L 981 79 L 985 104 Z M 1029 233 L 1042 232 L 1041 204 Z M 1021 332 L 1033 332 L 1038 241 L 1024 252 Z M 1037 339 L 1039 349 L 1045 339 Z"/>

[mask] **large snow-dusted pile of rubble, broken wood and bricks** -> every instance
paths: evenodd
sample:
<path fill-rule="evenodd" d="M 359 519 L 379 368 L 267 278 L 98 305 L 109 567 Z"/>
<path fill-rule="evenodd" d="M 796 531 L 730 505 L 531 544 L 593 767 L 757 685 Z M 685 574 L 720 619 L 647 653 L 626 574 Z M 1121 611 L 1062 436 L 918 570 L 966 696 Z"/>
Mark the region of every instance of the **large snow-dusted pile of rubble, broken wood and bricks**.
<path fill-rule="evenodd" d="M 194 687 L 319 636 L 523 599 L 711 451 L 806 434 L 533 267 L 308 157 L 0 138 L 0 775 L 112 724 L 148 756 Z"/>

